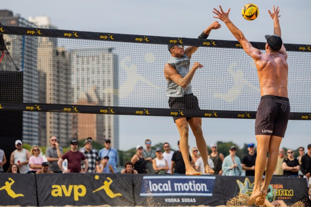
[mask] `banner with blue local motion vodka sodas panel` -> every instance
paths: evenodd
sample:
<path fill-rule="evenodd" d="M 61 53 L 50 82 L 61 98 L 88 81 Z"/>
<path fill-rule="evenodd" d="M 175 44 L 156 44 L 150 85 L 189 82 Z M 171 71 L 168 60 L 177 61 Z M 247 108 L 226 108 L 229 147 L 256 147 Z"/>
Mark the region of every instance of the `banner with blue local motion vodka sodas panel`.
<path fill-rule="evenodd" d="M 218 179 L 218 178 L 217 178 Z M 136 205 L 222 205 L 216 176 L 133 176 Z M 219 184 L 219 183 L 218 183 Z"/>

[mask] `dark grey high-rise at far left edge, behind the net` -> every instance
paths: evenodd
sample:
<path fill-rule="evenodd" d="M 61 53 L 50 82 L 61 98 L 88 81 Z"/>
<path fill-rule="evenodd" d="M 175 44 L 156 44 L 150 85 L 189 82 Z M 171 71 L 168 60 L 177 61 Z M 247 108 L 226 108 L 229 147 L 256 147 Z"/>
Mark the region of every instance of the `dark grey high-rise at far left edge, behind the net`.
<path fill-rule="evenodd" d="M 4 26 L 36 27 L 35 24 L 20 16 L 14 16 L 13 12 L 8 10 L 0 10 L 0 22 Z M 3 37 L 13 61 L 5 56 L 0 64 L 0 72 L 19 70 L 23 73 L 23 102 L 38 103 L 38 38 L 13 35 Z M 38 112 L 23 112 L 23 141 L 31 145 L 39 144 Z"/>

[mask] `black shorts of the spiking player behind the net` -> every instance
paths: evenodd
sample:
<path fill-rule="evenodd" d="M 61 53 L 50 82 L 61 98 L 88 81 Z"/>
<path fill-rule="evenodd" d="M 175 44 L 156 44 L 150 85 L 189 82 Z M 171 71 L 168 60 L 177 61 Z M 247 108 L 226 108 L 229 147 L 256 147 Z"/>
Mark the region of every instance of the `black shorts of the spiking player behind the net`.
<path fill-rule="evenodd" d="M 200 110 L 198 98 L 195 95 L 193 95 L 193 93 L 186 94 L 183 97 L 170 97 L 169 106 L 171 109 L 198 109 Z M 174 122 L 180 118 L 183 118 L 183 117 L 173 116 Z M 192 117 L 186 117 L 186 118 L 188 121 Z"/>

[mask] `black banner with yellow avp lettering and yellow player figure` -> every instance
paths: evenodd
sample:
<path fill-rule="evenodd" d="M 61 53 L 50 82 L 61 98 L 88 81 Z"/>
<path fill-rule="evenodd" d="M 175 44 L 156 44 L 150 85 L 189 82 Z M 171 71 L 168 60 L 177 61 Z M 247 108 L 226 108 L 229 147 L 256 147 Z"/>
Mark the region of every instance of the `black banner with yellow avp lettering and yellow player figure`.
<path fill-rule="evenodd" d="M 134 206 L 132 175 L 37 174 L 39 206 Z"/>

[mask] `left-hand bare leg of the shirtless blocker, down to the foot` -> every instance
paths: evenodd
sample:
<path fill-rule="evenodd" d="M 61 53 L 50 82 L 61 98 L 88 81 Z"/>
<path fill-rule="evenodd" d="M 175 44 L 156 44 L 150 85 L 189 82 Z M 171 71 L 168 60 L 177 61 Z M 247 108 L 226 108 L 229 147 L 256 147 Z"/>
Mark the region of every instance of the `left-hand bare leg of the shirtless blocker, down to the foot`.
<path fill-rule="evenodd" d="M 255 162 L 255 180 L 254 180 L 253 192 L 249 199 L 249 204 L 255 203 L 257 197 L 263 196 L 261 192 L 260 184 L 261 184 L 263 172 L 267 164 L 267 153 L 269 150 L 270 137 L 271 137 L 270 135 L 256 135 L 257 157 L 256 157 L 256 162 Z"/>

